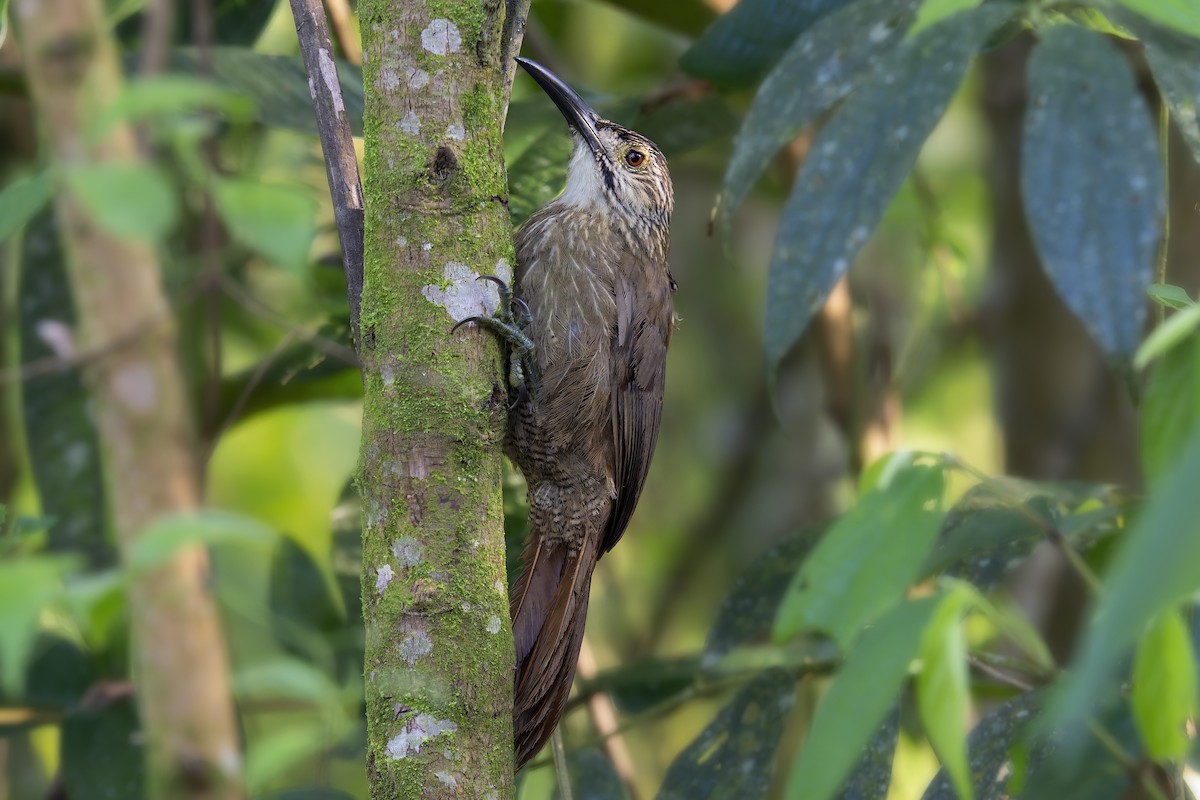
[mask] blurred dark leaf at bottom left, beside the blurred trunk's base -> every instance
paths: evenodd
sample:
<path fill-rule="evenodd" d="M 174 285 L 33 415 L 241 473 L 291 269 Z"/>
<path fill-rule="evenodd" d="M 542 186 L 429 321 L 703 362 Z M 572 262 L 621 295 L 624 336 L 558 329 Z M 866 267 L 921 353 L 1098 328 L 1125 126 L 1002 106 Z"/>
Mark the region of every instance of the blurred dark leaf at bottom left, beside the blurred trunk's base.
<path fill-rule="evenodd" d="M 145 796 L 144 758 L 132 692 L 97 699 L 62 723 L 62 786 L 70 798 Z"/>

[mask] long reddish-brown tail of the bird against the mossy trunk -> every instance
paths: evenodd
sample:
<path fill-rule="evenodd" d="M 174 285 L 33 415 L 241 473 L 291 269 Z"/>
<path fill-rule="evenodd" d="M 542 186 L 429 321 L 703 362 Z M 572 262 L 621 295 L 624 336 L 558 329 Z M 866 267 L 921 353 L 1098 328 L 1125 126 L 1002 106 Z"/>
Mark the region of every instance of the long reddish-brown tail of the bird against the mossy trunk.
<path fill-rule="evenodd" d="M 517 769 L 550 741 L 566 705 L 599 558 L 594 539 L 569 553 L 558 543 L 542 545 L 536 531 L 529 536 L 510 608 L 517 654 L 512 712 Z"/>

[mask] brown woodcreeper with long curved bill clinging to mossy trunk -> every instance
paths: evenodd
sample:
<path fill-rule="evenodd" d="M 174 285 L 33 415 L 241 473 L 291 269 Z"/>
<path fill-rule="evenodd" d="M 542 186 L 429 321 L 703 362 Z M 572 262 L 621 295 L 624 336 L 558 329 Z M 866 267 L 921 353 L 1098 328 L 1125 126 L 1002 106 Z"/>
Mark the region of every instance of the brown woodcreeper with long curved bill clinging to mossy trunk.
<path fill-rule="evenodd" d="M 601 118 L 540 64 L 517 62 L 566 119 L 563 191 L 516 231 L 514 287 L 472 317 L 508 343 L 504 450 L 528 486 L 510 589 L 516 769 L 550 740 L 570 693 L 592 573 L 629 525 L 662 419 L 676 326 L 667 255 L 674 193 L 647 137 Z"/>

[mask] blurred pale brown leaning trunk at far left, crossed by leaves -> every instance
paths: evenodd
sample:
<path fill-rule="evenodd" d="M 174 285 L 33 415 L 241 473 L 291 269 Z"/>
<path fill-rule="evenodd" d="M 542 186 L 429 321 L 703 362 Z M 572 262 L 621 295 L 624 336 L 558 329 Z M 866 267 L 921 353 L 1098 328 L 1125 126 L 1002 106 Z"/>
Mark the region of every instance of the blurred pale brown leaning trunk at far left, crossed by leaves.
<path fill-rule="evenodd" d="M 121 90 L 98 0 L 22 0 L 12 13 L 48 150 L 58 167 L 133 162 L 132 131 L 88 127 Z M 199 503 L 193 432 L 175 332 L 154 251 L 116 239 L 70 192 L 56 199 L 80 348 L 122 553 L 152 521 Z M 187 548 L 128 590 L 134 673 L 156 798 L 242 796 L 224 642 L 202 548 Z"/>

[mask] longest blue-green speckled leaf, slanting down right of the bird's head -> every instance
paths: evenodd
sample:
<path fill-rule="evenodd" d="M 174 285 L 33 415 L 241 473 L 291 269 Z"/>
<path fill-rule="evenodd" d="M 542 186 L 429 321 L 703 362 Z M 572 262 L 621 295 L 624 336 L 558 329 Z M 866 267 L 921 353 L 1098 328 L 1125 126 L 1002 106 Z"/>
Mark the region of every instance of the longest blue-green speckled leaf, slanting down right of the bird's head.
<path fill-rule="evenodd" d="M 971 56 L 1012 12 L 1012 6 L 988 4 L 902 42 L 817 134 L 784 206 L 772 254 L 763 337 L 768 374 L 866 242 Z"/>

